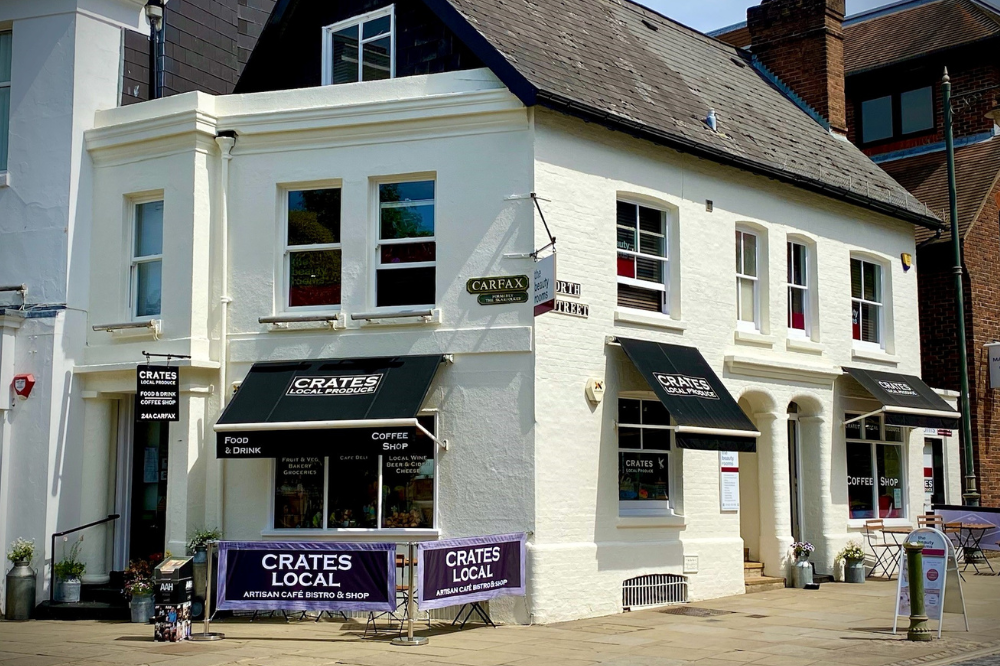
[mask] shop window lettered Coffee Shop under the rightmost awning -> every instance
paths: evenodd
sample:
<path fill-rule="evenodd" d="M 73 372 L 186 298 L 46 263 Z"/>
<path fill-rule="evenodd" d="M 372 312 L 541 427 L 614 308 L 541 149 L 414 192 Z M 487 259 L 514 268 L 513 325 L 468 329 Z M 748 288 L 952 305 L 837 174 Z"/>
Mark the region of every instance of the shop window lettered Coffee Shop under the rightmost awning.
<path fill-rule="evenodd" d="M 848 414 L 845 420 L 857 418 Z M 853 519 L 906 518 L 905 431 L 879 415 L 848 423 L 847 499 Z"/>

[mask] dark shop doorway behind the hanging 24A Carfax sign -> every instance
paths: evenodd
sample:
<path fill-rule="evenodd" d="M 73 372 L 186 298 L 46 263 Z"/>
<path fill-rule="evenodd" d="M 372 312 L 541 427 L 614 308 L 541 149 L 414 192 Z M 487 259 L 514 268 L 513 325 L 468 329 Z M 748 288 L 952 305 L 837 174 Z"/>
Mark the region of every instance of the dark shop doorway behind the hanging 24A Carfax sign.
<path fill-rule="evenodd" d="M 118 422 L 115 569 L 133 560 L 163 558 L 167 526 L 167 423 L 136 423 L 132 400 L 121 401 Z"/>

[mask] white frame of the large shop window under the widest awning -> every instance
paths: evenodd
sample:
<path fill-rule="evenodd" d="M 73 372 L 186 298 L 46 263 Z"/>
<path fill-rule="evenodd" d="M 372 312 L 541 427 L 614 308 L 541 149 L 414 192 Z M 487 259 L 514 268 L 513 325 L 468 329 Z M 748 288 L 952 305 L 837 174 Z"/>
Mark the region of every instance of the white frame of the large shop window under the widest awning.
<path fill-rule="evenodd" d="M 418 417 L 434 417 L 434 433 L 440 432 L 439 428 L 441 426 L 441 419 L 436 409 L 427 409 L 421 411 Z M 438 501 L 438 491 L 441 486 L 440 483 L 440 469 L 438 468 L 438 444 L 437 442 L 431 443 L 433 448 L 433 454 L 431 458 L 434 460 L 434 511 L 432 514 L 432 524 L 431 527 L 325 527 L 330 519 L 330 458 L 335 455 L 320 455 L 320 456 L 288 456 L 288 457 L 303 457 L 303 458 L 320 458 L 323 461 L 323 525 L 320 528 L 298 528 L 298 529 L 288 529 L 288 528 L 275 528 L 274 527 L 274 494 L 277 490 L 277 474 L 278 474 L 278 459 L 271 458 L 270 465 L 270 499 L 268 500 L 268 511 L 267 511 L 267 526 L 261 530 L 262 536 L 282 536 L 282 537 L 302 537 L 302 541 L 309 541 L 317 537 L 323 537 L 325 535 L 357 535 L 365 536 L 370 535 L 374 537 L 378 536 L 392 536 L 394 534 L 406 535 L 406 536 L 436 536 L 440 533 L 440 516 L 439 507 L 441 503 Z M 382 455 L 378 454 L 378 522 L 382 523 Z M 284 456 L 282 456 L 284 457 Z"/>

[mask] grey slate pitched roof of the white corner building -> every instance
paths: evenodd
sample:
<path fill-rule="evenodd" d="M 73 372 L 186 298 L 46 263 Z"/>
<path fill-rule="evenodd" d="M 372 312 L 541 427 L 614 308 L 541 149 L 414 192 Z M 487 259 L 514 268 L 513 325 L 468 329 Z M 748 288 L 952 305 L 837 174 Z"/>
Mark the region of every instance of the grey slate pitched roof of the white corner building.
<path fill-rule="evenodd" d="M 529 106 L 575 113 L 918 224 L 937 224 L 856 147 L 769 82 L 748 54 L 656 12 L 627 0 L 425 2 L 467 43 L 478 41 L 480 58 Z M 461 23 L 467 23 L 464 31 Z M 502 59 L 483 53 L 483 39 Z M 716 112 L 718 133 L 704 122 L 709 109 Z"/>

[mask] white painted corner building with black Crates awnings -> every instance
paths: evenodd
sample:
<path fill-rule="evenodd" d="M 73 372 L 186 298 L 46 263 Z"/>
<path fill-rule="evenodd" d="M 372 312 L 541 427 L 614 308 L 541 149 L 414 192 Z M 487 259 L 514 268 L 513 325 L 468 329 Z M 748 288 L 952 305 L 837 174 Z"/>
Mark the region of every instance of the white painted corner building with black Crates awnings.
<path fill-rule="evenodd" d="M 923 390 L 919 267 L 901 257 L 914 253 L 914 224 L 938 222 L 734 49 L 648 10 L 581 3 L 610 7 L 624 44 L 650 47 L 647 31 L 684 45 L 670 57 L 692 71 L 664 71 L 683 69 L 687 107 L 652 86 L 648 106 L 639 95 L 601 119 L 583 74 L 556 94 L 532 69 L 536 51 L 517 65 L 499 56 L 507 33 L 491 3 L 441 4 L 435 20 L 489 68 L 393 77 L 416 19 L 386 3 L 367 20 L 390 17 L 389 80 L 191 93 L 95 115 L 86 345 L 67 400 L 82 412 L 73 450 L 86 461 L 86 508 L 123 518 L 88 571 L 181 552 L 203 527 L 245 541 L 525 531 L 528 596 L 494 611 L 554 622 L 620 612 L 625 581 L 646 574 L 682 576 L 692 600 L 741 593 L 744 550 L 787 576 L 793 537 L 834 573 L 865 519 L 915 525 L 924 429 L 882 419 L 942 415 L 893 412 L 844 368 Z M 272 35 L 309 27 L 280 15 L 292 23 Z M 337 18 L 322 24 L 330 40 L 366 20 Z M 473 19 L 479 37 L 463 24 Z M 580 20 L 591 37 L 617 29 Z M 280 47 L 265 31 L 244 76 L 266 79 L 255 62 Z M 343 74 L 343 53 L 330 52 L 329 76 Z M 710 108 L 715 129 L 703 122 Z M 674 113 L 669 131 L 648 115 L 661 109 Z M 550 243 L 543 214 L 558 278 L 579 295 L 538 317 L 530 302 L 480 304 L 469 280 L 532 275 L 530 255 Z M 672 376 L 738 402 L 755 430 L 687 423 L 622 340 L 704 358 L 717 378 Z M 178 422 L 134 423 L 147 352 L 190 357 L 172 361 Z M 441 445 L 416 472 L 355 450 L 363 465 L 334 447 L 302 453 L 294 434 L 281 457 L 216 455 L 213 428 L 251 372 L 436 355 L 449 362 L 419 412 Z M 603 400 L 588 397 L 595 381 Z M 845 424 L 866 414 L 864 427 Z M 723 509 L 721 452 L 690 448 L 699 437 L 710 449 L 756 440 L 738 455 L 738 508 Z M 955 441 L 943 450 L 957 498 Z"/>

